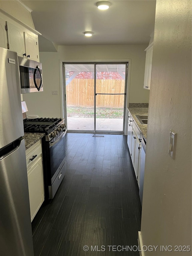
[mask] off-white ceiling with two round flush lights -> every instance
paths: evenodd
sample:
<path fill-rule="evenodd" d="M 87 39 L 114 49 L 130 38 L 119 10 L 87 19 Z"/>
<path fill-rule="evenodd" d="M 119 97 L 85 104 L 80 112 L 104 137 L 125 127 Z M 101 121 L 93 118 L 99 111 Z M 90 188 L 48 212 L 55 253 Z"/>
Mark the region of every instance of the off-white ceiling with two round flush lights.
<path fill-rule="evenodd" d="M 99 0 L 98 0 L 99 1 Z M 101 11 L 93 0 L 27 0 L 35 29 L 57 45 L 148 44 L 154 31 L 154 0 L 110 0 Z M 87 38 L 83 32 L 94 34 Z"/>

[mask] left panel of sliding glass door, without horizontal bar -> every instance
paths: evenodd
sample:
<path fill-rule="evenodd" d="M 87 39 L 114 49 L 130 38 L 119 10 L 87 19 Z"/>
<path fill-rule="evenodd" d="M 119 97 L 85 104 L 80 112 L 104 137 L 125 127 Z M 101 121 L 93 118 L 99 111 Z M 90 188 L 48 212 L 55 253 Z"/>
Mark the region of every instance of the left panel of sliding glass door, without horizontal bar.
<path fill-rule="evenodd" d="M 94 64 L 65 64 L 65 89 L 67 130 L 94 132 Z"/>

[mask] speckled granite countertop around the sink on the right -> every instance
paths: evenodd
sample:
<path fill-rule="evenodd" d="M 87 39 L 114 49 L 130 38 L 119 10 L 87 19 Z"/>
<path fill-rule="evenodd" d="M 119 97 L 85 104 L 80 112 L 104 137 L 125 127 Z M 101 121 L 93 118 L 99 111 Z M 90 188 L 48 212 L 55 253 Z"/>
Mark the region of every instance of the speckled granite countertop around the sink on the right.
<path fill-rule="evenodd" d="M 144 139 L 147 139 L 147 125 L 140 124 L 139 120 L 137 119 L 136 115 L 148 115 L 148 107 L 129 107 L 128 110 L 131 113 L 131 116 L 135 120 L 138 129 L 141 131 Z"/>

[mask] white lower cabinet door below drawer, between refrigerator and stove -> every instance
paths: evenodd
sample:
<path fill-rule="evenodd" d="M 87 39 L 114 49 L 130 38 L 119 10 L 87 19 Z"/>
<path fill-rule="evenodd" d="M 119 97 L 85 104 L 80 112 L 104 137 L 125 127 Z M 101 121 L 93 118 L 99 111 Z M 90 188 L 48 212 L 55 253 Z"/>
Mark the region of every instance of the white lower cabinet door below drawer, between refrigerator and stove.
<path fill-rule="evenodd" d="M 44 201 L 42 157 L 27 172 L 31 221 Z"/>

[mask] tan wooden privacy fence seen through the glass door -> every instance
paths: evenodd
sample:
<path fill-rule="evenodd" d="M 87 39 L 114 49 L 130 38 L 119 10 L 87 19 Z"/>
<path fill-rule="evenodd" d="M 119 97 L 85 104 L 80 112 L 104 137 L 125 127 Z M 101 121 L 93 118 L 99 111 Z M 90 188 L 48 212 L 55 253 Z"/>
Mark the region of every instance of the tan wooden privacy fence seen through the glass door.
<path fill-rule="evenodd" d="M 96 93 L 124 93 L 125 80 L 97 79 Z M 66 86 L 67 105 L 94 106 L 94 79 L 73 79 Z M 97 107 L 124 107 L 125 95 L 96 95 Z"/>

